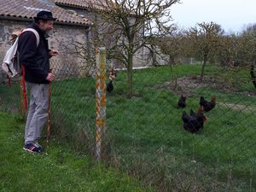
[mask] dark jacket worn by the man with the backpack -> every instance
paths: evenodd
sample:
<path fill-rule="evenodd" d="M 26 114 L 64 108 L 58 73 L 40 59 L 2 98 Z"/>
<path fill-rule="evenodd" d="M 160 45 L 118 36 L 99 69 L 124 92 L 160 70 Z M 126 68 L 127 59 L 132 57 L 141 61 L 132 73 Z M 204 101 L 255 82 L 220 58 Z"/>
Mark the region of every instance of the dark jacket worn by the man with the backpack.
<path fill-rule="evenodd" d="M 18 51 L 20 64 L 25 67 L 25 80 L 34 84 L 49 84 L 46 80 L 49 73 L 49 48 L 45 33 L 35 23 L 27 28 L 35 29 L 40 41 L 37 47 L 37 38 L 33 32 L 20 35 Z"/>

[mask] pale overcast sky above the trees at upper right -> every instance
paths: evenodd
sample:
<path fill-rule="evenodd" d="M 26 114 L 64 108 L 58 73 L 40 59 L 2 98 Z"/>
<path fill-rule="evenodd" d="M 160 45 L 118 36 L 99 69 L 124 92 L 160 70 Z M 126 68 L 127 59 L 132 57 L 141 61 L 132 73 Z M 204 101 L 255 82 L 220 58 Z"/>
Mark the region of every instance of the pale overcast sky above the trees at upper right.
<path fill-rule="evenodd" d="M 181 0 L 172 5 L 171 13 L 178 26 L 215 21 L 225 32 L 241 32 L 245 25 L 256 23 L 256 0 Z"/>

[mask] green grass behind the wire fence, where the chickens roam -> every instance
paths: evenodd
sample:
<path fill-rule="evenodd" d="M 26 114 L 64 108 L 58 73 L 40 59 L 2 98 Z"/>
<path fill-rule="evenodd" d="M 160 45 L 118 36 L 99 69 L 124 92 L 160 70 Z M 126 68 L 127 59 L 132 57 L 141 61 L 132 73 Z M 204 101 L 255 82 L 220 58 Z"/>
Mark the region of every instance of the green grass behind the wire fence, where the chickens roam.
<path fill-rule="evenodd" d="M 179 65 L 172 70 L 177 77 L 195 76 L 201 66 Z M 111 154 L 111 164 L 153 183 L 160 191 L 255 191 L 256 96 L 249 72 L 207 66 L 207 77 L 236 91 L 192 90 L 187 111 L 198 108 L 200 96 L 216 95 L 218 102 L 229 104 L 218 104 L 207 113 L 204 130 L 192 135 L 183 130 L 179 96 L 155 88 L 173 80 L 172 70 L 135 70 L 132 99 L 125 97 L 126 73 L 118 73 L 113 93 L 107 93 L 106 153 Z M 73 143 L 73 148 L 79 143 L 80 151 L 94 148 L 95 80 L 67 79 L 55 82 L 52 90 L 56 136 Z"/>

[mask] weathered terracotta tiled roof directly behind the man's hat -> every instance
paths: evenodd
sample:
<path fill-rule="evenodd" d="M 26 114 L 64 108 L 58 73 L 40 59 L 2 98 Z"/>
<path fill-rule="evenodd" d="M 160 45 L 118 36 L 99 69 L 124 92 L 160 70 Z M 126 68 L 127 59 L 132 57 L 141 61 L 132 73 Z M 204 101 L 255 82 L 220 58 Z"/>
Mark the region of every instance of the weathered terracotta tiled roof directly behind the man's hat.
<path fill-rule="evenodd" d="M 32 19 L 41 10 L 49 10 L 57 21 L 79 25 L 90 25 L 90 21 L 81 15 L 61 9 L 49 0 L 0 0 L 0 16 Z"/>

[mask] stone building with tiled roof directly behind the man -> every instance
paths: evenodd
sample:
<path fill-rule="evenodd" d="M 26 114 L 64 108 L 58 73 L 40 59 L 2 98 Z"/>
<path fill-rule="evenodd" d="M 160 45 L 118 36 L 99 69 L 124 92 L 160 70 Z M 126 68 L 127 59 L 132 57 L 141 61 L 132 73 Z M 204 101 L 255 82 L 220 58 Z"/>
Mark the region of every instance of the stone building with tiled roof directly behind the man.
<path fill-rule="evenodd" d="M 51 59 L 51 67 L 59 77 L 88 73 L 86 61 L 79 56 L 67 54 L 63 44 L 68 44 L 70 39 L 86 44 L 89 38 L 90 20 L 62 9 L 50 0 L 0 0 L 0 3 L 0 60 L 3 61 L 3 56 L 10 47 L 11 33 L 24 29 L 39 11 L 49 10 L 57 18 L 54 30 L 49 35 L 49 48 L 60 51 L 58 57 Z"/>

